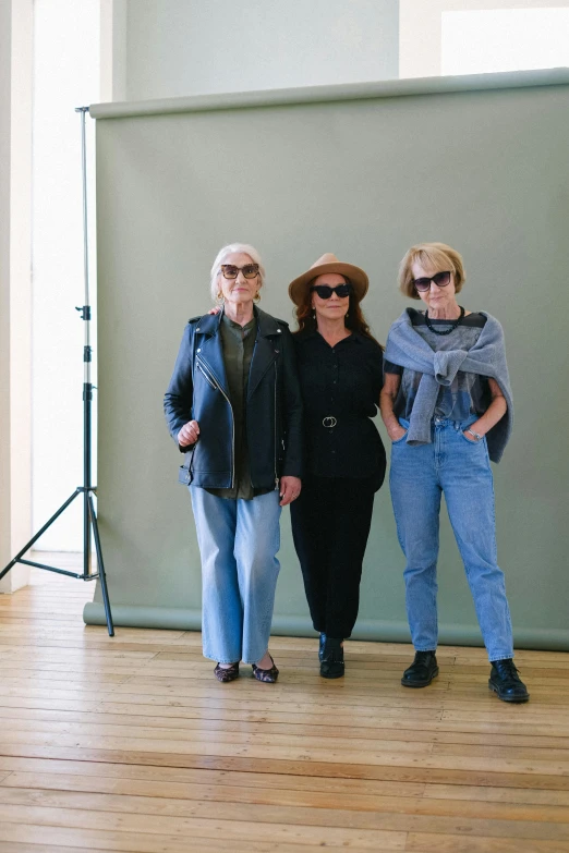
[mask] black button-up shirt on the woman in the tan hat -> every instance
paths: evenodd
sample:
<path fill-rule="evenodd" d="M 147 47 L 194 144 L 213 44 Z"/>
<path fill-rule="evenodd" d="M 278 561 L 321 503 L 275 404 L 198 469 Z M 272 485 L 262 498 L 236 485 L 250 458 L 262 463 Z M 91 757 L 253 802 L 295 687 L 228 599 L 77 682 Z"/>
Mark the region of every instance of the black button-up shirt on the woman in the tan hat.
<path fill-rule="evenodd" d="M 385 449 L 371 418 L 377 414 L 383 385 L 380 346 L 356 332 L 336 346 L 316 331 L 294 334 L 293 340 L 308 472 L 320 477 L 373 477 L 379 488 Z"/>

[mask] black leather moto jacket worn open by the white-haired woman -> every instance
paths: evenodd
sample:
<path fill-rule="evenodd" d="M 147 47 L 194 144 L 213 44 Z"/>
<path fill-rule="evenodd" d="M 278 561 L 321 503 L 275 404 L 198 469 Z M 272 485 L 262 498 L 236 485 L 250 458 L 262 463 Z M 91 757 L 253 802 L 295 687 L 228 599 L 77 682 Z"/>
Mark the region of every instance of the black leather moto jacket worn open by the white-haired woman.
<path fill-rule="evenodd" d="M 274 488 L 281 476 L 302 476 L 302 397 L 288 325 L 255 307 L 257 337 L 246 399 L 246 439 L 253 488 Z M 185 453 L 181 483 L 231 488 L 234 477 L 233 411 L 229 399 L 221 314 L 191 319 L 185 327 L 164 399 L 170 435 L 189 421 L 199 438 Z"/>

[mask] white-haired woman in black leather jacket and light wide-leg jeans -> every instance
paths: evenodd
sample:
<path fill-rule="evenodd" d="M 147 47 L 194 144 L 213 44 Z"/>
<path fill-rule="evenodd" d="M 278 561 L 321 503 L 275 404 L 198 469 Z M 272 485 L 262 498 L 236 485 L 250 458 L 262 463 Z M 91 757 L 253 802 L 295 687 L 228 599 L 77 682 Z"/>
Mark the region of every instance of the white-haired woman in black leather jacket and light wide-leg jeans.
<path fill-rule="evenodd" d="M 265 271 L 253 246 L 225 246 L 211 268 L 217 314 L 185 328 L 165 397 L 185 453 L 202 557 L 204 656 L 221 682 L 251 663 L 279 671 L 268 641 L 279 572 L 281 508 L 301 490 L 302 402 L 291 334 L 261 310 Z"/>

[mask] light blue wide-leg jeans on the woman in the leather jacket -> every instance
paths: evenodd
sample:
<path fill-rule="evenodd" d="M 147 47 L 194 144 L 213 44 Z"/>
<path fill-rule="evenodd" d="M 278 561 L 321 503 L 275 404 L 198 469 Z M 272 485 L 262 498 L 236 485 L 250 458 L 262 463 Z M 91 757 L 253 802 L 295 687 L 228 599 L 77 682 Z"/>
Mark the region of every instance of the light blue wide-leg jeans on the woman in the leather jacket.
<path fill-rule="evenodd" d="M 256 663 L 268 648 L 280 564 L 278 489 L 253 500 L 190 486 L 202 557 L 204 656 Z"/>

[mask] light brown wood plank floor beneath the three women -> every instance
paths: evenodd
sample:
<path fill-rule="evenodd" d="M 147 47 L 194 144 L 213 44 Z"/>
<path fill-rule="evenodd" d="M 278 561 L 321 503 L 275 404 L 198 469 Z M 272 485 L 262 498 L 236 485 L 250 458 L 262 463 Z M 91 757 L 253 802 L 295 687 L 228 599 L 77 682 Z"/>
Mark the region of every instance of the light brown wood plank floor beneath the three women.
<path fill-rule="evenodd" d="M 92 596 L 40 571 L 0 596 L 1 853 L 568 853 L 569 655 L 518 654 L 521 706 L 450 646 L 420 691 L 410 646 L 349 642 L 324 681 L 284 637 L 276 685 L 219 684 L 199 634 L 110 638 Z"/>

